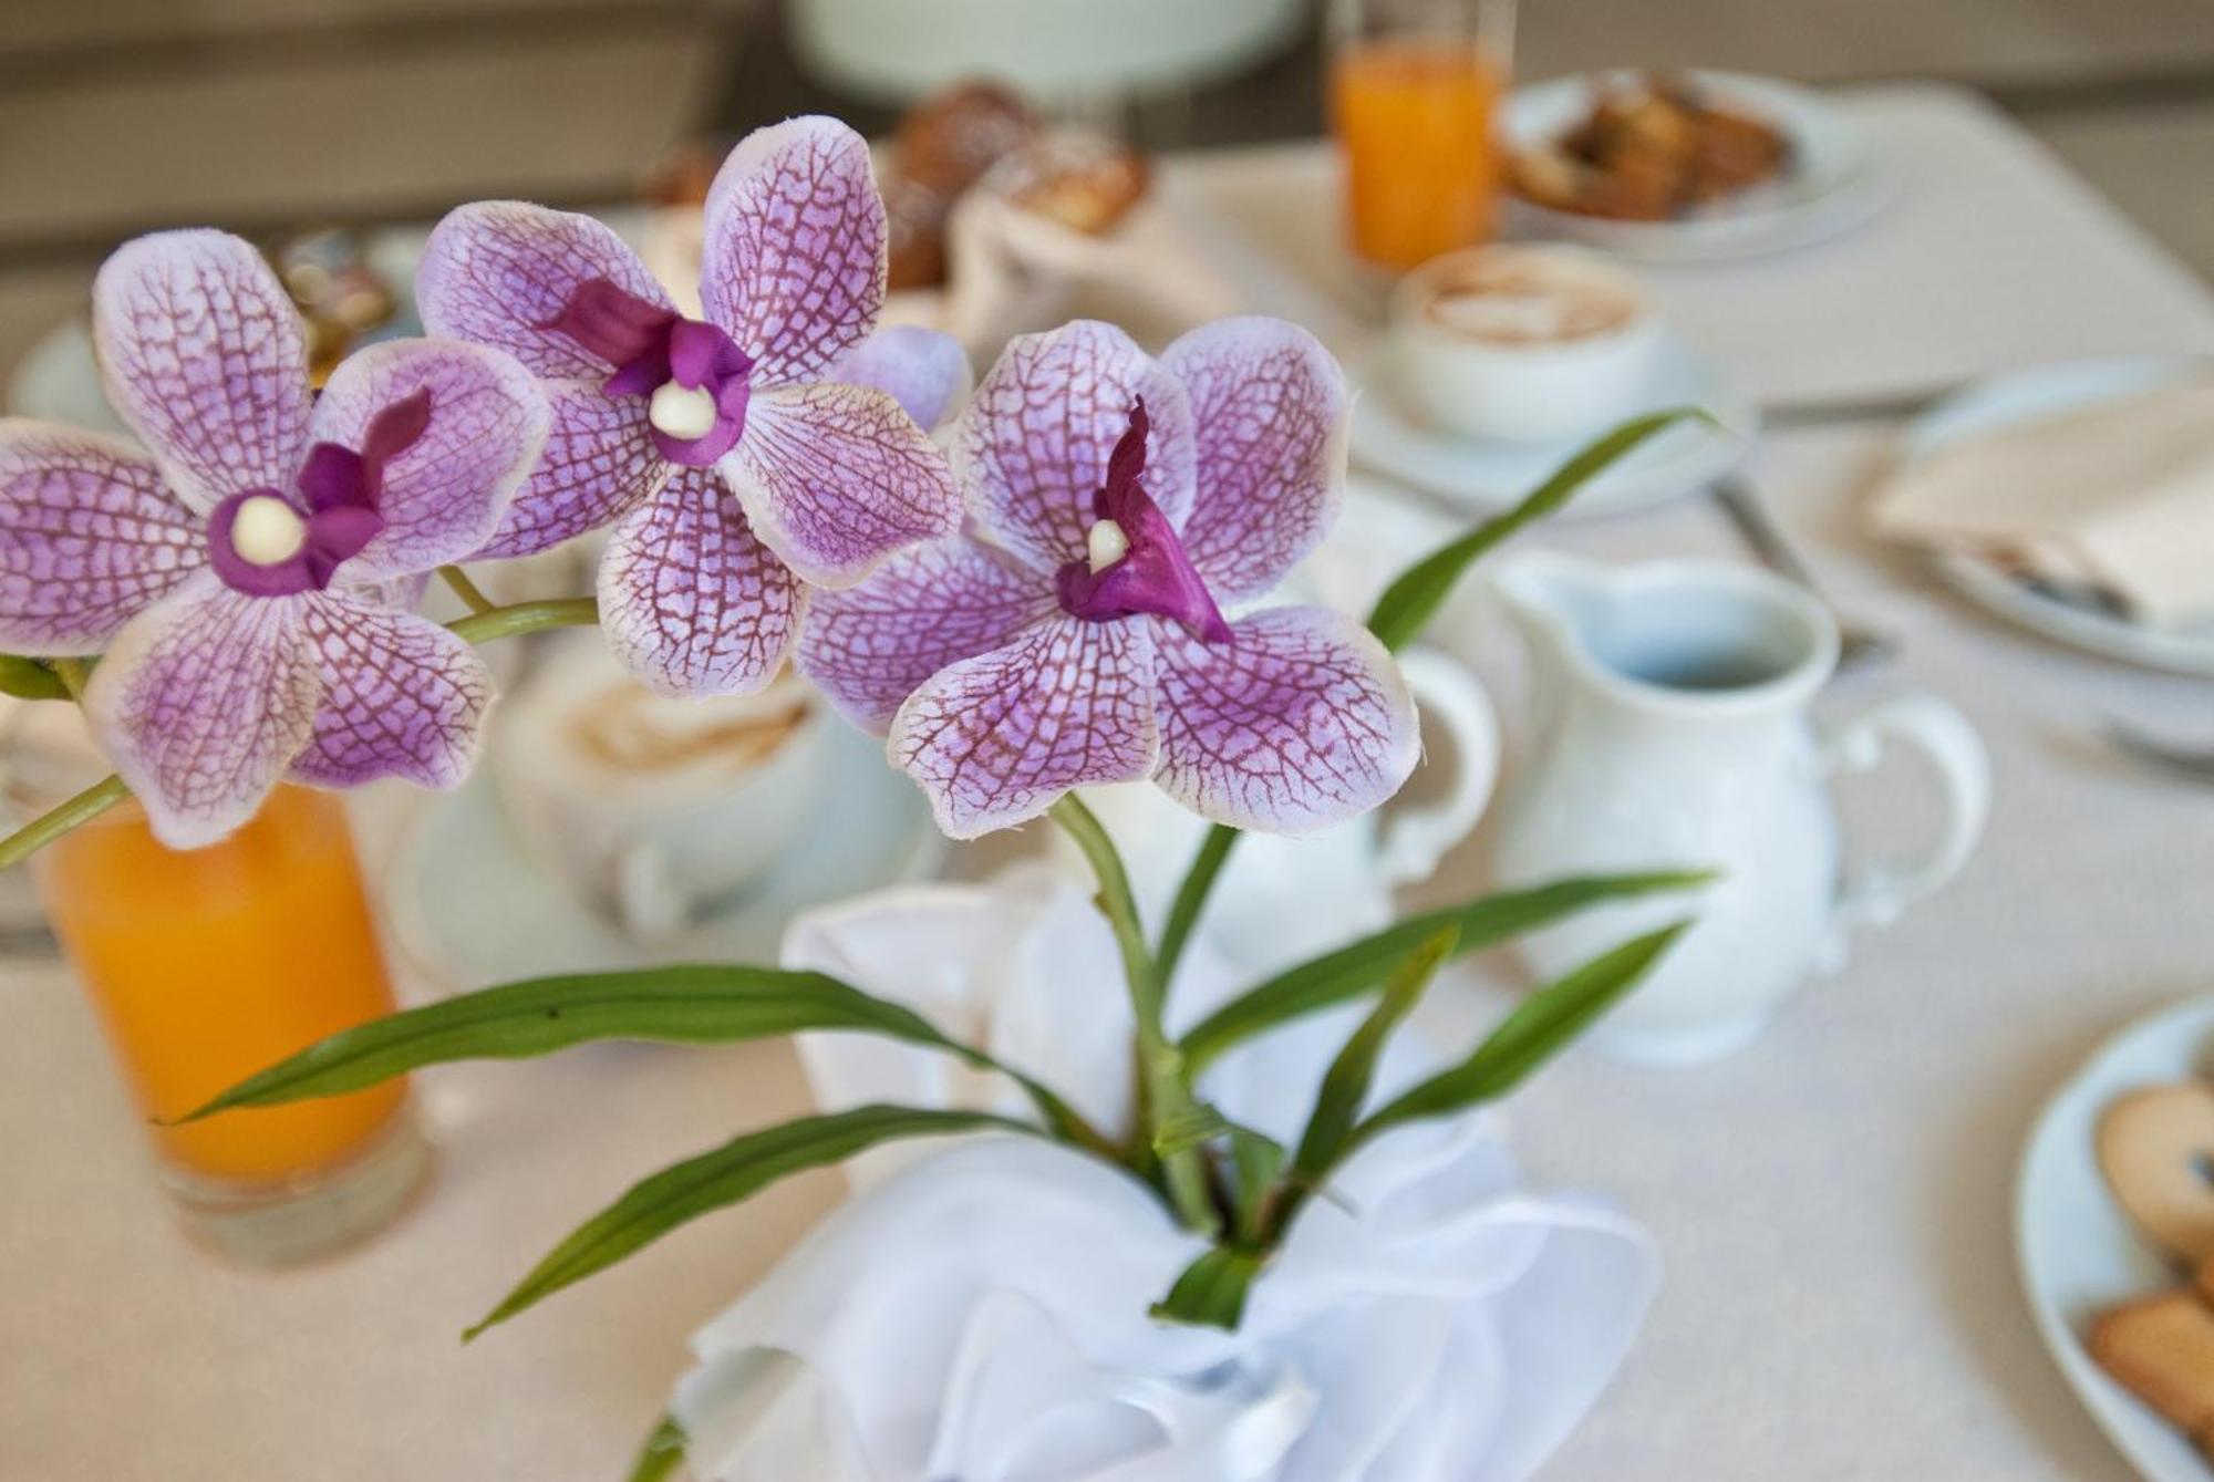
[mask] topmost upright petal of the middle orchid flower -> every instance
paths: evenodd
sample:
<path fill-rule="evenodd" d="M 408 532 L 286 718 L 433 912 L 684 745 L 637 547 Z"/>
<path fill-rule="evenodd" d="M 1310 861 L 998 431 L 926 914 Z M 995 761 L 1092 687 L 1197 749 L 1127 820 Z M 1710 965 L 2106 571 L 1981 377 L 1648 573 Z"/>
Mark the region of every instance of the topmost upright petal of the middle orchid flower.
<path fill-rule="evenodd" d="M 883 268 L 868 139 L 826 117 L 739 139 L 706 199 L 700 301 L 757 385 L 821 380 L 875 327 Z"/>

